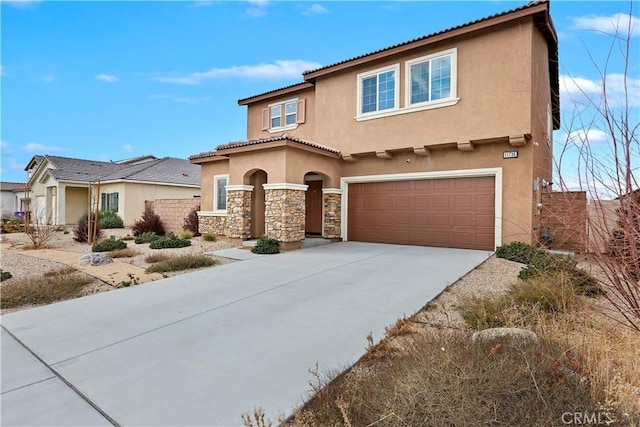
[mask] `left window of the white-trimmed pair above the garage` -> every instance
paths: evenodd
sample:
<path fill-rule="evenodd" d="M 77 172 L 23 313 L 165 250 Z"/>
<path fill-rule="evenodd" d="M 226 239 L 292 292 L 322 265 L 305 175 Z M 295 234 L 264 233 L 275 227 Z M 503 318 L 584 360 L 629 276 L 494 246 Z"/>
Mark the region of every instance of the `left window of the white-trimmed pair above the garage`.
<path fill-rule="evenodd" d="M 399 65 L 358 74 L 358 116 L 398 107 Z"/>

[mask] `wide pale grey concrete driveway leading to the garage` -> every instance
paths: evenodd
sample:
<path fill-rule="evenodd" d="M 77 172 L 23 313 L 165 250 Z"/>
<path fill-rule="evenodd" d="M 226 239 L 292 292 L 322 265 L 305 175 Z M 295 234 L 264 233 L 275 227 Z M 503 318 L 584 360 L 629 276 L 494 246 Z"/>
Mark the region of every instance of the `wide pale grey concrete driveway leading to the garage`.
<path fill-rule="evenodd" d="M 2 316 L 2 425 L 236 426 L 289 413 L 489 252 L 345 242 Z"/>

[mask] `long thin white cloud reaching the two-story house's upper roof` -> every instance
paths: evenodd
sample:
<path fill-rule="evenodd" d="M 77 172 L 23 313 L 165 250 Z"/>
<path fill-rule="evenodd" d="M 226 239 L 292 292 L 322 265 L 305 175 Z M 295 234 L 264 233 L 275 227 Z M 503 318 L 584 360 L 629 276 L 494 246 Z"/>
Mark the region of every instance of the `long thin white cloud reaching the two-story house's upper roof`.
<path fill-rule="evenodd" d="M 276 60 L 259 65 L 234 65 L 229 68 L 212 68 L 209 71 L 191 73 L 182 77 L 157 76 L 153 80 L 162 83 L 184 85 L 200 84 L 205 80 L 225 77 L 249 79 L 289 79 L 300 78 L 303 71 L 319 68 L 320 64 L 303 60 Z"/>

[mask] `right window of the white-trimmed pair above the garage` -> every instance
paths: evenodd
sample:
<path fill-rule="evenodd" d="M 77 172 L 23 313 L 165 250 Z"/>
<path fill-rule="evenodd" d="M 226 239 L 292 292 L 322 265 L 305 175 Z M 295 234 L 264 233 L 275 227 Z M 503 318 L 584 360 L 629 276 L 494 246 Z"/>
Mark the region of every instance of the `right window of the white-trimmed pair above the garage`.
<path fill-rule="evenodd" d="M 406 106 L 421 106 L 456 97 L 457 49 L 406 62 Z"/>

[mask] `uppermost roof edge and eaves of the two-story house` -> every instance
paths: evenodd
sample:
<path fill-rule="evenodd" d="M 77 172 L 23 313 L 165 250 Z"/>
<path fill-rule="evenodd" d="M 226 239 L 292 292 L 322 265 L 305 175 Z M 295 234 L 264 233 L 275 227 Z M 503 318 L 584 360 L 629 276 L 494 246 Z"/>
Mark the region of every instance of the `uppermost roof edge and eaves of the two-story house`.
<path fill-rule="evenodd" d="M 533 22 L 536 28 L 542 33 L 548 46 L 549 57 L 549 75 L 551 80 L 551 103 L 553 109 L 553 124 L 554 129 L 560 128 L 560 90 L 559 90 L 559 72 L 558 72 L 558 36 L 556 35 L 555 28 L 551 22 L 549 15 L 550 4 L 548 0 L 532 1 L 524 6 L 520 6 L 515 9 L 510 9 L 505 12 L 490 15 L 484 18 L 476 19 L 475 21 L 468 22 L 466 24 L 457 25 L 445 30 L 437 31 L 435 33 L 427 34 L 422 37 L 418 37 L 406 42 L 398 43 L 393 46 L 382 48 L 373 52 L 365 53 L 350 59 L 339 61 L 324 67 L 317 68 L 311 71 L 305 71 L 302 76 L 306 83 L 314 84 L 315 79 L 321 76 L 325 76 L 337 71 L 345 70 L 357 65 L 362 65 L 371 61 L 375 61 L 390 55 L 405 52 L 418 47 L 426 46 L 431 43 L 439 42 L 442 40 L 457 37 L 463 34 L 468 34 L 472 31 L 481 30 L 494 25 L 503 24 L 505 22 L 521 19 L 524 17 L 532 16 Z M 297 90 L 297 86 L 303 83 L 298 83 L 292 86 L 286 86 L 284 88 L 275 89 L 272 91 L 264 92 L 251 97 L 238 100 L 239 105 L 248 105 L 254 102 L 269 99 L 274 96 L 278 96 L 284 93 L 288 93 L 287 90 L 292 88 Z"/>

